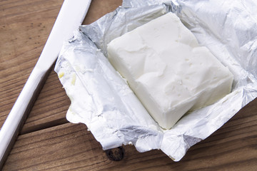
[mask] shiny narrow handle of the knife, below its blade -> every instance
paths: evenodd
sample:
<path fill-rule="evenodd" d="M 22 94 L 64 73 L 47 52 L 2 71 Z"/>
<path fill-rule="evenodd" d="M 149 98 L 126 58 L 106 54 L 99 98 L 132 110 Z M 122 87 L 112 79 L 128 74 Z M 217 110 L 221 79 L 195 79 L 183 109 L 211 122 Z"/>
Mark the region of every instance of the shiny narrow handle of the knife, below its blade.
<path fill-rule="evenodd" d="M 48 76 L 47 73 L 49 72 L 42 71 L 39 65 L 35 66 L 1 128 L 0 170 L 4 166 L 4 162 L 11 150 L 11 147 L 13 147 L 16 137 L 19 135 L 19 130 L 24 124 L 36 97 L 39 95 L 39 91 L 46 81 Z"/>

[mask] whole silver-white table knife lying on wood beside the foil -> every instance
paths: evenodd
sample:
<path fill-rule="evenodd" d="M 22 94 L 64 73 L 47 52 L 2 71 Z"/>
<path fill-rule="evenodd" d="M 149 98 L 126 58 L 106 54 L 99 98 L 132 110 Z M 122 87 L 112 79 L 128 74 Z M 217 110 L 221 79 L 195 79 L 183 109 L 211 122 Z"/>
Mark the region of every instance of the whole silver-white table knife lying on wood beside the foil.
<path fill-rule="evenodd" d="M 4 165 L 7 155 L 23 125 L 28 110 L 33 105 L 44 78 L 54 61 L 56 61 L 64 41 L 72 38 L 73 32 L 84 21 L 91 0 L 65 0 L 51 30 L 46 45 L 31 72 L 28 81 L 21 90 L 14 107 L 11 109 L 4 125 L 0 130 L 0 170 Z"/>

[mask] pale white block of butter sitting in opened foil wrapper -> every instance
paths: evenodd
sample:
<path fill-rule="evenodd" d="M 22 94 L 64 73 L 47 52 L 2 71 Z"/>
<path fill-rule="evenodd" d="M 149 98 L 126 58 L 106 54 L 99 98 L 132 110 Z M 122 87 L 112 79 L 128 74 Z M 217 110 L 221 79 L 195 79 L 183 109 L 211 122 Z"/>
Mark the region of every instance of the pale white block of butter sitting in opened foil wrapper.
<path fill-rule="evenodd" d="M 232 73 L 168 13 L 111 41 L 110 63 L 154 120 L 170 129 L 188 110 L 231 92 Z"/>

